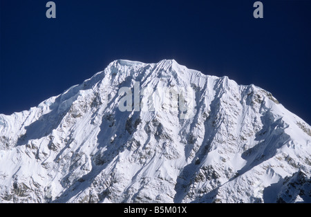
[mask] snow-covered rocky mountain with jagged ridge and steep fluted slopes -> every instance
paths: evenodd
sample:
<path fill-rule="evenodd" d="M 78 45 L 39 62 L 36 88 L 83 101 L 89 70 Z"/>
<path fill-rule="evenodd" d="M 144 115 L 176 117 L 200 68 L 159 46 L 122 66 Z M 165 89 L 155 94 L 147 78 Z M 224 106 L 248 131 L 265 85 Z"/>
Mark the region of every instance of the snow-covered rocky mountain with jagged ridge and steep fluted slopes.
<path fill-rule="evenodd" d="M 311 128 L 271 93 L 117 60 L 0 115 L 0 202 L 311 202 Z"/>

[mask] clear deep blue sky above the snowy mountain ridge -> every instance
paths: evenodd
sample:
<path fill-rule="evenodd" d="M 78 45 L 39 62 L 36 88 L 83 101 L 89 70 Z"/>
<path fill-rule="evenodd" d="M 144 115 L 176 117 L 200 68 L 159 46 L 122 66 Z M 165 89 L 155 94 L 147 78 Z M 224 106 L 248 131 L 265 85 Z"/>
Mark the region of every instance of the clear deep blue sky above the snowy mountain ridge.
<path fill-rule="evenodd" d="M 114 59 L 176 59 L 255 84 L 309 124 L 311 1 L 0 0 L 0 113 L 27 110 Z"/>

